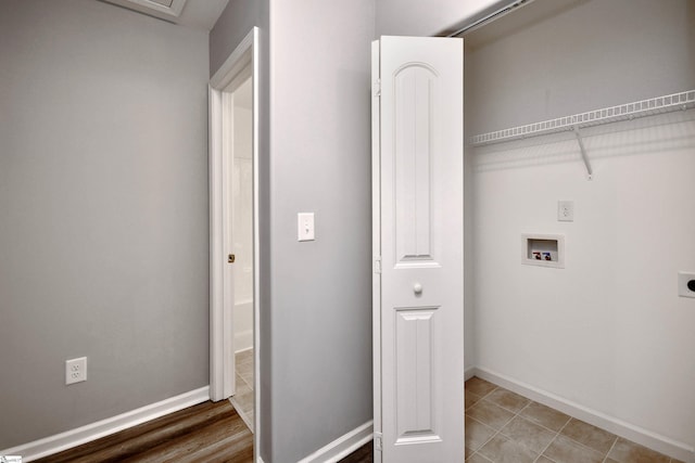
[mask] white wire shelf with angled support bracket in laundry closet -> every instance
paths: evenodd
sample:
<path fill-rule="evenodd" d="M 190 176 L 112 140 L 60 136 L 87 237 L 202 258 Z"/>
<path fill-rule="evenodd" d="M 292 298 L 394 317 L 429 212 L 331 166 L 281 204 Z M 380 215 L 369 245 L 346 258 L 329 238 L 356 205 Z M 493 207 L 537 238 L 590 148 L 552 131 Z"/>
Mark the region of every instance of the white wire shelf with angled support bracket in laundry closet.
<path fill-rule="evenodd" d="M 637 117 L 670 113 L 679 110 L 692 110 L 694 107 L 695 90 L 687 90 L 680 93 L 656 97 L 648 100 L 620 104 L 618 106 L 604 107 L 601 110 L 589 111 L 586 113 L 528 124 L 526 126 L 511 127 L 509 129 L 481 133 L 472 137 L 470 139 L 470 143 L 473 146 L 483 146 L 488 144 L 504 143 L 513 140 L 540 137 L 544 134 L 571 130 L 577 137 L 577 142 L 582 155 L 582 160 L 584 162 L 584 167 L 586 168 L 586 175 L 589 177 L 589 180 L 591 180 L 593 170 L 591 167 L 591 163 L 589 162 L 589 156 L 586 155 L 586 149 L 584 147 L 580 129 L 602 124 L 634 119 Z"/>

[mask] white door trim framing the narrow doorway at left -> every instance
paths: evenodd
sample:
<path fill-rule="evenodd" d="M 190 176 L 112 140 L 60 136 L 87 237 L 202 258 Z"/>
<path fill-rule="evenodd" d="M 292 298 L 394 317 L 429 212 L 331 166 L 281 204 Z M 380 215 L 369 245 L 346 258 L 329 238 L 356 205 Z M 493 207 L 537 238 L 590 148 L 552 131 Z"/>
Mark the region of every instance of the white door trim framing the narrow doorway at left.
<path fill-rule="evenodd" d="M 210 398 L 224 400 L 229 397 L 231 381 L 229 359 L 233 330 L 230 305 L 224 300 L 223 234 L 223 93 L 230 83 L 251 69 L 253 88 L 253 347 L 254 347 L 254 427 L 260 429 L 260 239 L 258 239 L 258 28 L 254 27 L 210 79 Z M 231 352 L 233 356 L 233 352 Z M 257 448 L 257 433 L 254 434 Z"/>

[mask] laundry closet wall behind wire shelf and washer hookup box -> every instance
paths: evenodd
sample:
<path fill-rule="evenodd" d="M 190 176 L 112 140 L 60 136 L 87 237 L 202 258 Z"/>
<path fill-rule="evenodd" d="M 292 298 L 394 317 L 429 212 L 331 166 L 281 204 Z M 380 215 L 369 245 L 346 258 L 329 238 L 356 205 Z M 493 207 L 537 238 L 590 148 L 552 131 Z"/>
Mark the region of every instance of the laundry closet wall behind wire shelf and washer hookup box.
<path fill-rule="evenodd" d="M 516 15 L 516 16 L 515 16 Z M 695 88 L 692 0 L 536 0 L 467 38 L 468 136 Z M 475 150 L 476 364 L 695 447 L 695 111 Z M 574 201 L 558 222 L 557 201 Z M 523 266 L 521 233 L 566 236 Z M 505 282 L 502 288 L 500 282 Z M 504 291 L 502 291 L 504 290 Z M 690 460 L 687 460 L 690 461 Z"/>

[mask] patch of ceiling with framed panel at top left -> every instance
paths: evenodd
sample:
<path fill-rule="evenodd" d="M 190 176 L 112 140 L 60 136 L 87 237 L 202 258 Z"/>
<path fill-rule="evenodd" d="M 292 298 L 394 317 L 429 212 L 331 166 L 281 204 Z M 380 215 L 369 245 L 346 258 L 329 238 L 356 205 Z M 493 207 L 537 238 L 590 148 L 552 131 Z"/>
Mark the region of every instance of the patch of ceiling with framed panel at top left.
<path fill-rule="evenodd" d="M 104 0 L 193 29 L 211 30 L 229 0 Z"/>

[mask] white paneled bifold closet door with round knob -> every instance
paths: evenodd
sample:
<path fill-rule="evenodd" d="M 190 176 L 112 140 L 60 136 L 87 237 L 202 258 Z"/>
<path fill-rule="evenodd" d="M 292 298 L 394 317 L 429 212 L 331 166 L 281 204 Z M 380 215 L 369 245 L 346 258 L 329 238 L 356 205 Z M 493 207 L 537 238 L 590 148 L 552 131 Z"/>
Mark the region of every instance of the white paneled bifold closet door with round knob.
<path fill-rule="evenodd" d="M 372 46 L 375 461 L 464 461 L 463 40 Z"/>

